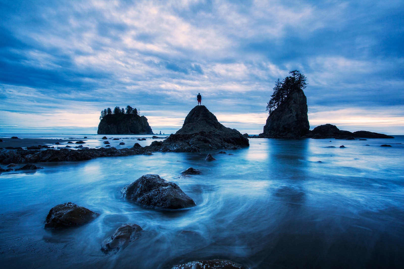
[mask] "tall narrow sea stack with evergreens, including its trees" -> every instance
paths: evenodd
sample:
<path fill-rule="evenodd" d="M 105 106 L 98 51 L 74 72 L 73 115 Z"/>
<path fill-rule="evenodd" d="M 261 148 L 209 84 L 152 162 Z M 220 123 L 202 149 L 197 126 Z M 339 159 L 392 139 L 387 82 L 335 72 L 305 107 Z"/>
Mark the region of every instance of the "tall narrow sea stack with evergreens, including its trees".
<path fill-rule="evenodd" d="M 303 92 L 306 77 L 299 71 L 290 71 L 291 76 L 276 81 L 274 94 L 267 104 L 269 116 L 264 138 L 300 138 L 309 132 L 307 98 Z"/>

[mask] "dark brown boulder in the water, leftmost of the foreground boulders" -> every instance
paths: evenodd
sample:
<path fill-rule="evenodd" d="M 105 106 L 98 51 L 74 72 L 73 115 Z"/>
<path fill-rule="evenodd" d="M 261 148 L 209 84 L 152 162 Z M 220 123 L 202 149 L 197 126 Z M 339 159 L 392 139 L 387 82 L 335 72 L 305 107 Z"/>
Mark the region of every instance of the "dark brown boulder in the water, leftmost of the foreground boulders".
<path fill-rule="evenodd" d="M 88 221 L 92 221 L 99 215 L 90 209 L 67 202 L 58 204 L 50 209 L 48 216 L 46 216 L 45 227 L 57 228 L 82 225 Z"/>

